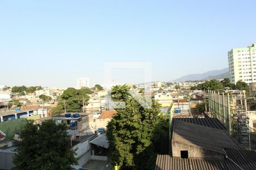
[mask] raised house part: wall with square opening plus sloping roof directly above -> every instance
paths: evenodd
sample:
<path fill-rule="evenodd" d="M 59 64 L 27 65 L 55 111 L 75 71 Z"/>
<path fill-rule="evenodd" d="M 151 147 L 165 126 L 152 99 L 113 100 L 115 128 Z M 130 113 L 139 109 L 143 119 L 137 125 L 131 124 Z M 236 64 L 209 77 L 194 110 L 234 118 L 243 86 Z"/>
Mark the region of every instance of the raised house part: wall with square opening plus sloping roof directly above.
<path fill-rule="evenodd" d="M 179 158 L 221 158 L 224 148 L 243 150 L 228 131 L 174 118 L 171 130 L 172 156 Z"/>

